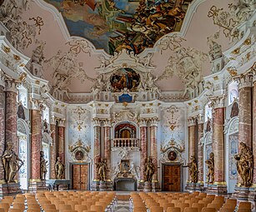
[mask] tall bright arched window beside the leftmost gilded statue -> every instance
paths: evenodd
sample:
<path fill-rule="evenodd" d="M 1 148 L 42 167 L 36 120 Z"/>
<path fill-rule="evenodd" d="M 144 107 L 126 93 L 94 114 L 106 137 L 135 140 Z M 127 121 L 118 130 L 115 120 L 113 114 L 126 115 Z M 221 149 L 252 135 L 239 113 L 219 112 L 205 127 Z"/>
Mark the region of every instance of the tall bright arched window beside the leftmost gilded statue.
<path fill-rule="evenodd" d="M 23 190 L 28 190 L 29 180 L 29 127 L 26 121 L 18 119 L 17 121 L 17 136 L 18 136 L 18 157 L 23 160 L 24 164 L 18 170 L 19 182 Z"/>

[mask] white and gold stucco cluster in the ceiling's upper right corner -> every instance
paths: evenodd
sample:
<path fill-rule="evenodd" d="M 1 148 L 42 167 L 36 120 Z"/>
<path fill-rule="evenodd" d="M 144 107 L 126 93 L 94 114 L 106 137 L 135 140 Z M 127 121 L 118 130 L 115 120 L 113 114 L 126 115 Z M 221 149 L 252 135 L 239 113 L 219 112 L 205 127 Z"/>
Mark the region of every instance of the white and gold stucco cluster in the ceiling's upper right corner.
<path fill-rule="evenodd" d="M 208 17 L 213 18 L 213 24 L 223 29 L 225 37 L 230 41 L 242 37 L 239 28 L 243 22 L 248 21 L 255 12 L 256 2 L 254 0 L 239 0 L 237 4 L 228 4 L 228 11 L 223 8 L 212 6 Z"/>

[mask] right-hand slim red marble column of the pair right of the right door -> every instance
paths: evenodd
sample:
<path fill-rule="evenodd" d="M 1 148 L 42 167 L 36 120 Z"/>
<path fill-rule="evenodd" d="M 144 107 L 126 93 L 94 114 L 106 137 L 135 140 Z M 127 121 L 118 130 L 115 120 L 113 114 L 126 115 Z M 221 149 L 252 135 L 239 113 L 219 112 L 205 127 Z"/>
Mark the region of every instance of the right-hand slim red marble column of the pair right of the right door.
<path fill-rule="evenodd" d="M 203 121 L 198 121 L 198 183 L 203 183 Z"/>

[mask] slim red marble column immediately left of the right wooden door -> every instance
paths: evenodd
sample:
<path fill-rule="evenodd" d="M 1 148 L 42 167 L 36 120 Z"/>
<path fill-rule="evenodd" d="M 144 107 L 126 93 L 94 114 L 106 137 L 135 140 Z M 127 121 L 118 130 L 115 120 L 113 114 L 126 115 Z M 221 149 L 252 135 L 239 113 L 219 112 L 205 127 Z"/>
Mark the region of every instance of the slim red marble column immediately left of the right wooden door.
<path fill-rule="evenodd" d="M 150 124 L 150 156 L 155 167 L 153 180 L 158 180 L 158 121 L 153 120 Z"/>

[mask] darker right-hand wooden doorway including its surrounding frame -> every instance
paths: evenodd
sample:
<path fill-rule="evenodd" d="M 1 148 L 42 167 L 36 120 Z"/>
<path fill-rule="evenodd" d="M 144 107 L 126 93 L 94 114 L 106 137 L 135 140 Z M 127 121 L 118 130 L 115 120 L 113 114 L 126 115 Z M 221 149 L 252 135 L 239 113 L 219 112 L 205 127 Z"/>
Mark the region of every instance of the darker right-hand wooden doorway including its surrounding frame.
<path fill-rule="evenodd" d="M 181 164 L 163 164 L 162 190 L 183 191 L 183 166 Z"/>

